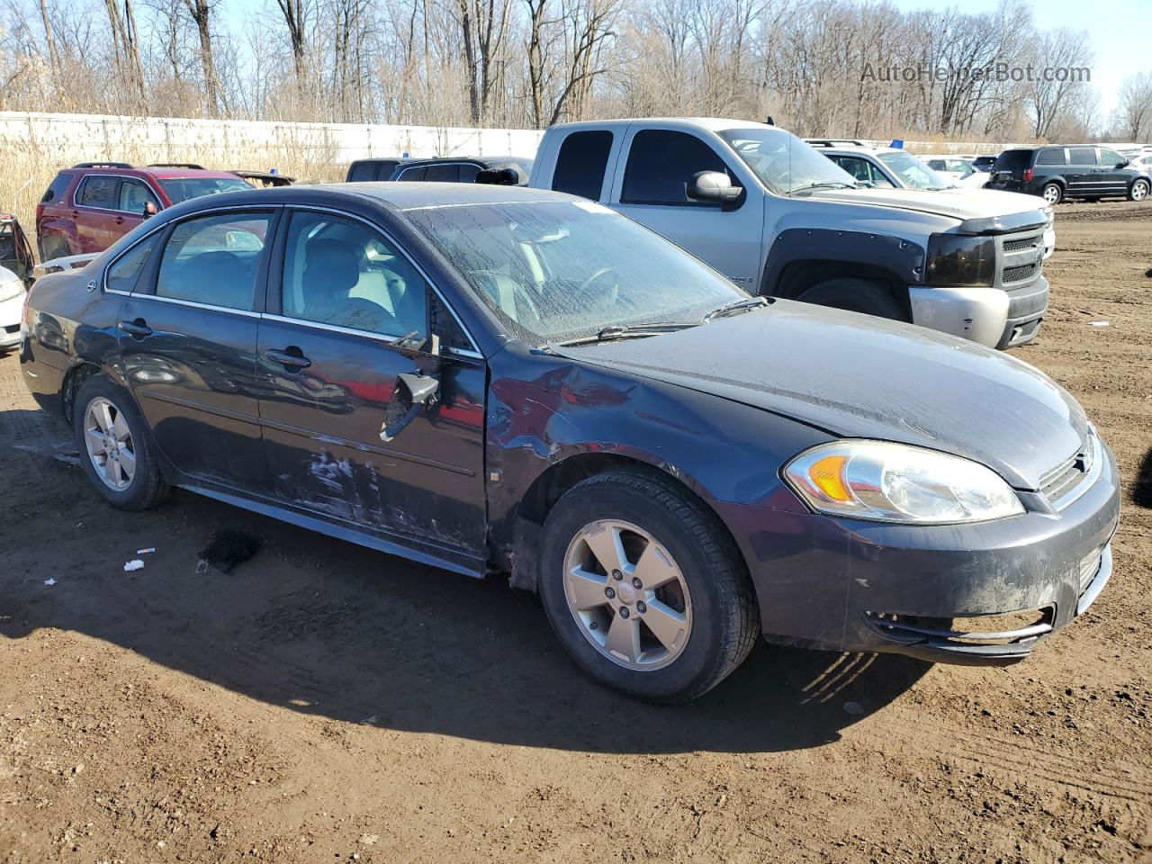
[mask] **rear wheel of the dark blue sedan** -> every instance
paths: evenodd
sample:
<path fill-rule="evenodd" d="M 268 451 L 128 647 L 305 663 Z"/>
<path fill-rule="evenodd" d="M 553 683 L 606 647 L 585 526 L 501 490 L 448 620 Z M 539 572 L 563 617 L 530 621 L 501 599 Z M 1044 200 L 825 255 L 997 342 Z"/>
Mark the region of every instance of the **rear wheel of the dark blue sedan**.
<path fill-rule="evenodd" d="M 73 427 L 84 473 L 113 507 L 144 510 L 167 498 L 147 425 L 123 389 L 89 378 L 76 394 Z"/>

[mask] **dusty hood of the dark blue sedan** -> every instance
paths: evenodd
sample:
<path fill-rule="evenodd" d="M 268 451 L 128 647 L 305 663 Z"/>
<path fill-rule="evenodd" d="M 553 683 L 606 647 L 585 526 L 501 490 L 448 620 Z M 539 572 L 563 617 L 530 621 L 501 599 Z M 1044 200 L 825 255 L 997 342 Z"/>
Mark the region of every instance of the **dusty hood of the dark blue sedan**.
<path fill-rule="evenodd" d="M 805 303 L 775 301 L 659 336 L 556 350 L 836 437 L 965 456 L 1020 490 L 1039 488 L 1087 434 L 1083 409 L 1026 363 L 922 327 Z"/>

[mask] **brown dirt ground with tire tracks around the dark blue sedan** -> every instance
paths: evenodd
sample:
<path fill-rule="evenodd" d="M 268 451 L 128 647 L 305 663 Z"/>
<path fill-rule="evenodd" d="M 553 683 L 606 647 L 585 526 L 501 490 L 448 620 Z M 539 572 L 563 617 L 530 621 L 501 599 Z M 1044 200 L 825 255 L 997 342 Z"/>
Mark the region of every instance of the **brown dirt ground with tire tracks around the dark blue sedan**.
<path fill-rule="evenodd" d="M 108 509 L 3 359 L 0 862 L 1152 861 L 1152 204 L 1056 227 L 1014 355 L 1096 419 L 1124 515 L 1101 599 L 1007 669 L 760 645 L 637 704 L 499 579 Z M 221 526 L 263 551 L 197 575 Z"/>

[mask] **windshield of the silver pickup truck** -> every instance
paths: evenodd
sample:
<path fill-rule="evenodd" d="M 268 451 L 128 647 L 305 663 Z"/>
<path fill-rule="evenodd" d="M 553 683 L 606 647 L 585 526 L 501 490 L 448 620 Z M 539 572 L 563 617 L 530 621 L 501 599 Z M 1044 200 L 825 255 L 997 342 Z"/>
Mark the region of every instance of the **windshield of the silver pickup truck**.
<path fill-rule="evenodd" d="M 855 187 L 856 179 L 783 129 L 725 129 L 720 137 L 776 195 L 821 187 Z"/>

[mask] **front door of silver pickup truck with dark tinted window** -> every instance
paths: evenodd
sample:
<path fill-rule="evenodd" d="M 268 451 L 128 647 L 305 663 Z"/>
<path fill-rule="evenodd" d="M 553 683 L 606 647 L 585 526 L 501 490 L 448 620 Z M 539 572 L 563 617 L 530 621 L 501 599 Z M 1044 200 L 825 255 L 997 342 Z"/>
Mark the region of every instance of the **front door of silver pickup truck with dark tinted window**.
<path fill-rule="evenodd" d="M 756 291 L 764 268 L 763 191 L 721 152 L 692 131 L 630 126 L 608 205 Z M 744 195 L 727 206 L 690 199 L 688 185 L 702 170 L 727 174 Z"/>

